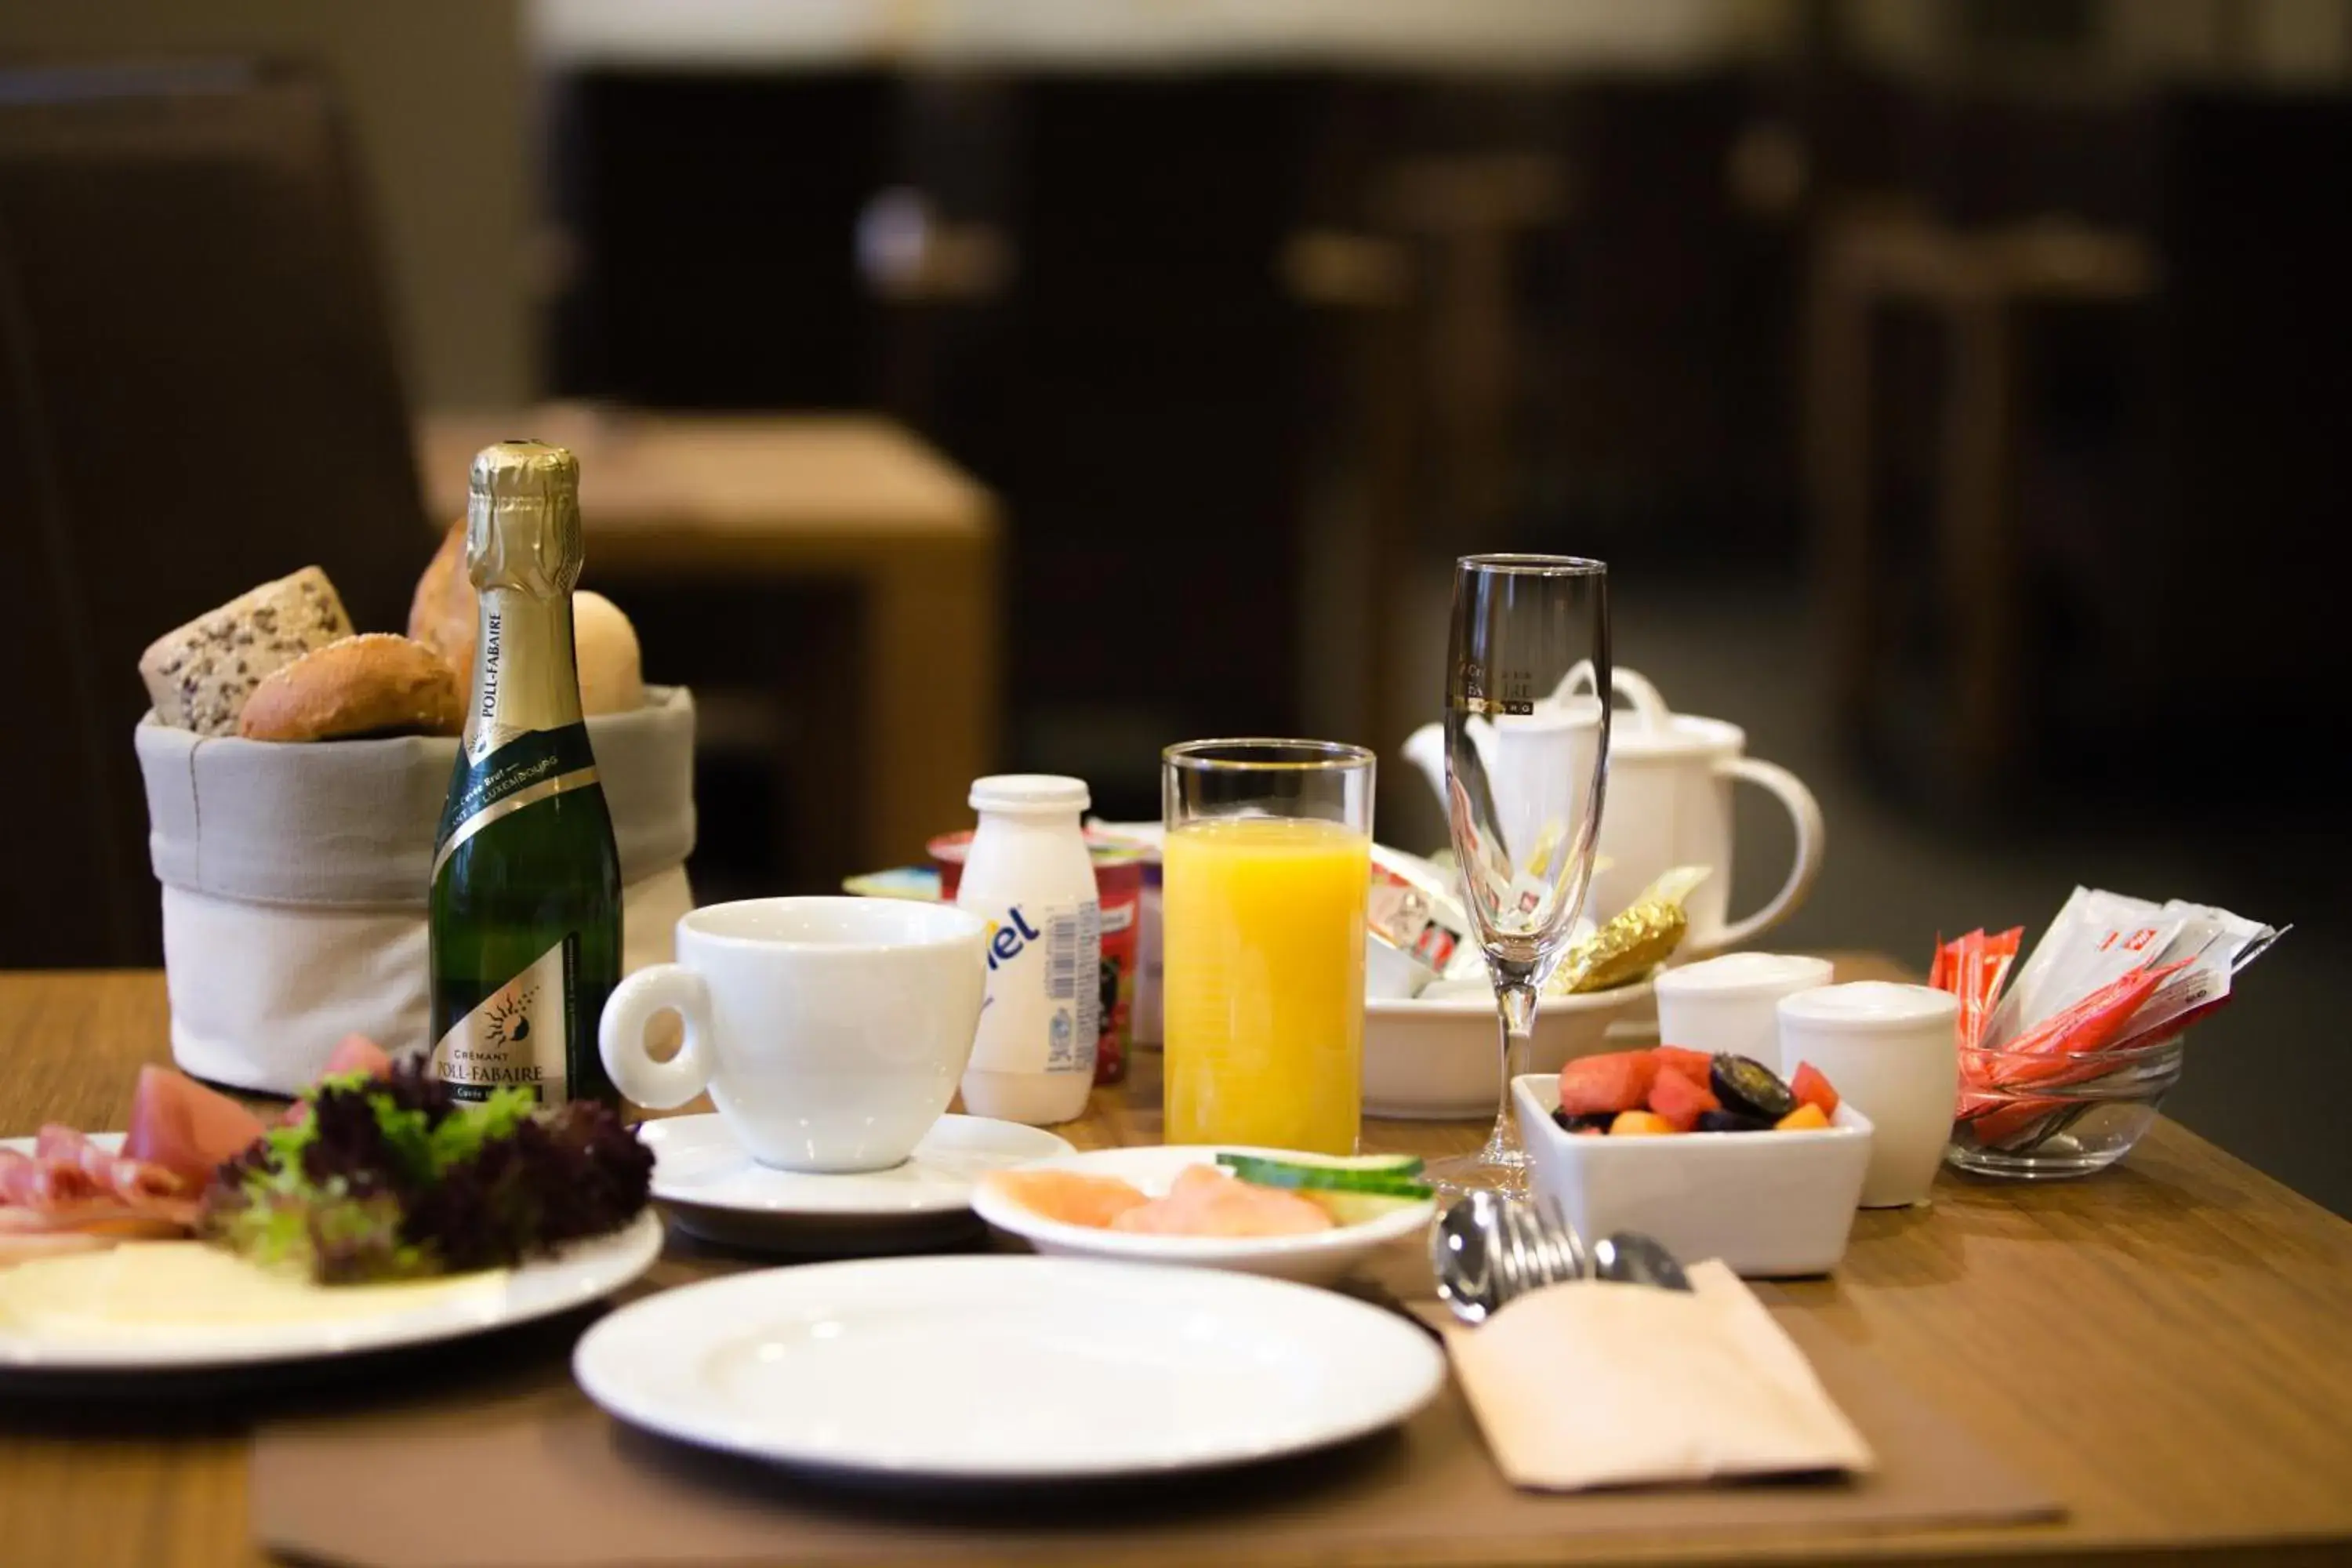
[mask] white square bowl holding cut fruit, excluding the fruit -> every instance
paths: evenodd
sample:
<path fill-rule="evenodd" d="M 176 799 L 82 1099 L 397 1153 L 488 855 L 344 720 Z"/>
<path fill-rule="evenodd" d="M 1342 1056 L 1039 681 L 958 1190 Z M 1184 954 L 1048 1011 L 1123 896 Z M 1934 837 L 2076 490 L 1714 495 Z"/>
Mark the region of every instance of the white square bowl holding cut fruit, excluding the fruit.
<path fill-rule="evenodd" d="M 1569 1133 L 1559 1074 L 1510 1084 L 1536 1190 L 1588 1241 L 1637 1229 L 1684 1262 L 1722 1258 L 1736 1274 L 1828 1274 L 1846 1255 L 1870 1166 L 1870 1119 L 1851 1105 L 1818 1131 Z"/>

